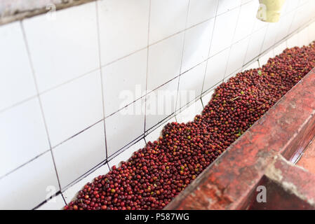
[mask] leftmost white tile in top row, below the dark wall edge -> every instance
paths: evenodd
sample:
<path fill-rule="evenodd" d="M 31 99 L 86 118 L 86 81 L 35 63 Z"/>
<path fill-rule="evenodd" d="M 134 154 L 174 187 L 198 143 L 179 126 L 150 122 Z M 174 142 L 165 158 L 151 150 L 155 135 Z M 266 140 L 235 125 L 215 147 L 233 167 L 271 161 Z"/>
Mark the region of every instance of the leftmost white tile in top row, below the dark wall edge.
<path fill-rule="evenodd" d="M 36 95 L 20 22 L 0 27 L 0 111 Z"/>

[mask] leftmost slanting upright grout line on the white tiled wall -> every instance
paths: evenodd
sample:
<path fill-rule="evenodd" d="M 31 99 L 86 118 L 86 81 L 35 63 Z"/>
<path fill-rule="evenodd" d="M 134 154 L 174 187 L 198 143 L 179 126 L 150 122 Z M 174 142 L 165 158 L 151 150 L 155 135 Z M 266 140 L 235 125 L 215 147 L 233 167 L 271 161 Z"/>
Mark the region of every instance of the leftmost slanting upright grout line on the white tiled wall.
<path fill-rule="evenodd" d="M 37 98 L 39 100 L 39 106 L 40 106 L 40 109 L 41 109 L 41 116 L 42 116 L 42 119 L 43 119 L 43 125 L 45 126 L 46 136 L 47 136 L 49 148 L 50 148 L 50 151 L 51 151 L 51 158 L 53 160 L 53 166 L 55 168 L 55 174 L 56 174 L 56 177 L 57 177 L 59 190 L 61 190 L 60 179 L 59 179 L 59 175 L 58 175 L 58 172 L 57 172 L 57 167 L 56 167 L 56 164 L 55 164 L 55 158 L 53 156 L 53 150 L 51 148 L 51 139 L 50 139 L 49 134 L 48 134 L 48 127 L 47 127 L 47 123 L 46 123 L 46 118 L 45 118 L 45 115 L 43 113 L 43 104 L 41 103 L 41 97 L 39 97 L 39 87 L 37 85 L 37 80 L 36 80 L 36 76 L 35 76 L 34 64 L 32 62 L 31 52 L 29 50 L 29 45 L 28 45 L 28 42 L 27 42 L 27 36 L 26 36 L 25 28 L 23 26 L 22 21 L 20 21 L 20 28 L 22 30 L 22 35 L 23 35 L 23 39 L 24 39 L 24 42 L 25 42 L 25 48 L 27 50 L 27 56 L 28 56 L 28 59 L 29 59 L 29 65 L 31 67 L 32 75 L 33 75 L 33 78 L 34 78 L 34 83 L 35 83 L 36 92 L 37 92 Z"/>

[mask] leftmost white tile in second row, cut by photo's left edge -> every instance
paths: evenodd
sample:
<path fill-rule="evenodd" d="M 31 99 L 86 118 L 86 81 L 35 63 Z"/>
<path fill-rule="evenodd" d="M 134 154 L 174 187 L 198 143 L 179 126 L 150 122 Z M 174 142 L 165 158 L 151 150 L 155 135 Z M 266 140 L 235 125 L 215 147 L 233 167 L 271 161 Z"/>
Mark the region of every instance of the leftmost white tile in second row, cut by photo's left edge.
<path fill-rule="evenodd" d="M 48 151 L 39 100 L 0 113 L 0 176 Z"/>

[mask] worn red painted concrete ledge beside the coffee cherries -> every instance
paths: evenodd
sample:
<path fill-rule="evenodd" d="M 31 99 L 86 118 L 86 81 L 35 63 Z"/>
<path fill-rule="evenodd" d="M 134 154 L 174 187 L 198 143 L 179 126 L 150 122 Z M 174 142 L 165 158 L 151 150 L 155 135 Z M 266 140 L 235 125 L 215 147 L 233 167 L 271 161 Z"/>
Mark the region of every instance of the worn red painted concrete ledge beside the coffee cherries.
<path fill-rule="evenodd" d="M 315 209 L 315 174 L 294 165 L 314 136 L 315 69 L 165 209 Z"/>

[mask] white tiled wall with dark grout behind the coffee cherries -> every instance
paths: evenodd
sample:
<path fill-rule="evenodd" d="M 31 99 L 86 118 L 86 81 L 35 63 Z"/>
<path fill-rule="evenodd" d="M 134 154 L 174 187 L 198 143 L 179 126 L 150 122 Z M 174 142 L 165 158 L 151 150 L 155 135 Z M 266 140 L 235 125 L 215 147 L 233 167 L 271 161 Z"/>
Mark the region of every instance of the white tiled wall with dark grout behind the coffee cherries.
<path fill-rule="evenodd" d="M 1 26 L 0 208 L 61 209 L 222 81 L 315 39 L 315 1 L 276 24 L 258 4 L 98 0 Z"/>

